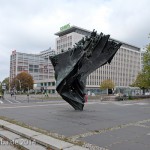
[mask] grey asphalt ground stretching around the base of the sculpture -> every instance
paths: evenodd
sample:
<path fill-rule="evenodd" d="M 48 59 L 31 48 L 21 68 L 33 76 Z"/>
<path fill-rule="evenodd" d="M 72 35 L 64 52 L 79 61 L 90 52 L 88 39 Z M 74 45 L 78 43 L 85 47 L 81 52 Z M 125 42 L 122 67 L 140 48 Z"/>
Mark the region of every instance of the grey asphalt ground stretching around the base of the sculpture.
<path fill-rule="evenodd" d="M 150 149 L 150 100 L 90 101 L 84 111 L 63 101 L 3 103 L 0 116 L 82 142 L 89 149 Z"/>

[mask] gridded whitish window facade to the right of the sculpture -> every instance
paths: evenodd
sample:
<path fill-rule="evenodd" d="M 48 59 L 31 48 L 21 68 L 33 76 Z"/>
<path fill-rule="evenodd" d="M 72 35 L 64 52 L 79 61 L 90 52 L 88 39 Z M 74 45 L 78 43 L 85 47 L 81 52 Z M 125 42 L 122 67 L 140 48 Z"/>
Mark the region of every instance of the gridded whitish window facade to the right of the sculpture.
<path fill-rule="evenodd" d="M 91 73 L 87 78 L 87 87 L 98 87 L 106 79 L 111 79 L 116 86 L 131 85 L 140 71 L 139 60 L 140 52 L 122 46 L 111 64 L 106 64 Z"/>

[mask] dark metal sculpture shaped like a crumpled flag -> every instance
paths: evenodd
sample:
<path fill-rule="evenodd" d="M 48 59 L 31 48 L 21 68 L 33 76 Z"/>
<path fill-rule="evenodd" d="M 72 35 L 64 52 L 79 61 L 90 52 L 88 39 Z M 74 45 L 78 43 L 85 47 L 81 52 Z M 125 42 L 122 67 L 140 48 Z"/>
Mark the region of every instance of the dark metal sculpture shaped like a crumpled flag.
<path fill-rule="evenodd" d="M 75 110 L 83 110 L 87 76 L 110 63 L 122 45 L 109 37 L 93 31 L 74 48 L 50 57 L 55 70 L 56 90 Z"/>

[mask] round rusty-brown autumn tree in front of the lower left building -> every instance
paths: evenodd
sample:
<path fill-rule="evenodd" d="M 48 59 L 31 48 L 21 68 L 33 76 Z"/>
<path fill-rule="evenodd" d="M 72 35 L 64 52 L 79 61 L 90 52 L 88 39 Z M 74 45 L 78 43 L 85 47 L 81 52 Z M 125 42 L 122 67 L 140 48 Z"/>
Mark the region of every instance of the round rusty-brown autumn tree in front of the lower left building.
<path fill-rule="evenodd" d="M 33 89 L 33 77 L 27 72 L 19 73 L 12 81 L 11 87 L 17 91 L 28 91 Z"/>

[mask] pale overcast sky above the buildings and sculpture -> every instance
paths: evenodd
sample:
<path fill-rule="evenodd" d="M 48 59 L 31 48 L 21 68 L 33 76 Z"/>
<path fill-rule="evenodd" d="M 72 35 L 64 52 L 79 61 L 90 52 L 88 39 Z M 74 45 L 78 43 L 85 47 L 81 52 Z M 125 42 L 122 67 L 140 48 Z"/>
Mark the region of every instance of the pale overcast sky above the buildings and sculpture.
<path fill-rule="evenodd" d="M 0 81 L 9 76 L 12 50 L 55 48 L 54 33 L 68 23 L 143 48 L 150 0 L 0 0 Z"/>

